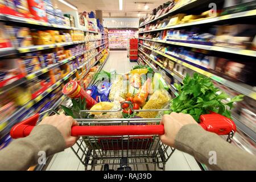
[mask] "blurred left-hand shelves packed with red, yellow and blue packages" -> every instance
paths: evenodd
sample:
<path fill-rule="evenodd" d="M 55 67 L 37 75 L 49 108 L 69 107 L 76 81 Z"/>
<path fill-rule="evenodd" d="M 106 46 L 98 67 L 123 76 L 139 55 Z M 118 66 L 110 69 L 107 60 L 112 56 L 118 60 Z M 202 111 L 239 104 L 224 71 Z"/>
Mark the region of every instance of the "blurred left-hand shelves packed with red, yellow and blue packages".
<path fill-rule="evenodd" d="M 68 81 L 87 88 L 109 56 L 108 30 L 93 12 L 76 17 L 50 0 L 12 3 L 0 6 L 0 148 L 16 123 L 65 102 Z"/>

